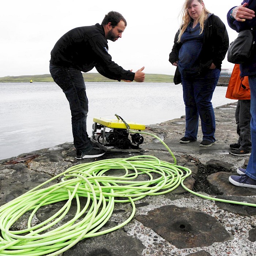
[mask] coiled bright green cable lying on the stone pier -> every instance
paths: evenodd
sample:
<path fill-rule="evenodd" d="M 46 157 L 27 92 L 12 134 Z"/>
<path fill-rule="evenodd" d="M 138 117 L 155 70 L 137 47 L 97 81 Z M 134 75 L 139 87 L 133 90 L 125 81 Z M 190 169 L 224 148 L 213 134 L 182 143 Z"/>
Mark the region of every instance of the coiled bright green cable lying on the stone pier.
<path fill-rule="evenodd" d="M 131 130 L 129 132 L 138 133 Z M 126 225 L 135 215 L 136 200 L 147 195 L 168 193 L 180 184 L 187 191 L 206 199 L 256 206 L 208 197 L 191 191 L 183 184 L 185 178 L 191 175 L 191 170 L 176 165 L 177 161 L 172 151 L 160 138 L 147 132 L 139 133 L 157 138 L 172 155 L 174 163 L 160 161 L 149 155 L 140 155 L 82 163 L 68 168 L 0 207 L 0 256 L 59 255 L 84 238 L 106 234 Z M 118 177 L 109 176 L 110 170 L 123 173 Z M 50 181 L 60 177 L 59 183 L 45 187 Z M 86 198 L 83 207 L 81 198 Z M 72 219 L 65 220 L 71 205 L 74 206 L 73 199 L 76 200 L 76 213 Z M 31 225 L 34 215 L 41 207 L 61 201 L 65 203 L 59 211 L 45 221 Z M 122 202 L 129 202 L 132 205 L 129 218 L 115 227 L 100 230 L 111 217 L 114 204 Z M 12 230 L 14 223 L 26 212 L 30 212 L 27 228 Z"/>

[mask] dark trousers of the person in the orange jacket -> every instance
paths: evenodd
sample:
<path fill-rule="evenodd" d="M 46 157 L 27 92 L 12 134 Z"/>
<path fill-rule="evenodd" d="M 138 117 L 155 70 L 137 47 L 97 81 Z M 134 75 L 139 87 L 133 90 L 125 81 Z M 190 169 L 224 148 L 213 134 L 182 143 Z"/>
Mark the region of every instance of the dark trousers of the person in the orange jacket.
<path fill-rule="evenodd" d="M 239 135 L 237 143 L 241 150 L 252 150 L 251 140 L 251 114 L 250 114 L 251 100 L 239 99 L 236 108 L 236 124 L 237 134 Z"/>

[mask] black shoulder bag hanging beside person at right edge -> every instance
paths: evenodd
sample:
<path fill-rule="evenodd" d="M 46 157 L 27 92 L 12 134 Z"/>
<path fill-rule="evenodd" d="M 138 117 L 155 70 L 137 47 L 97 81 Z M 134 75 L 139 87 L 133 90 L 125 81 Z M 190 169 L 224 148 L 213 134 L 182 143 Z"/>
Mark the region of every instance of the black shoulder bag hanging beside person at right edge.
<path fill-rule="evenodd" d="M 246 29 L 238 33 L 237 38 L 230 43 L 227 50 L 227 61 L 234 64 L 247 63 L 255 46 L 252 29 Z"/>

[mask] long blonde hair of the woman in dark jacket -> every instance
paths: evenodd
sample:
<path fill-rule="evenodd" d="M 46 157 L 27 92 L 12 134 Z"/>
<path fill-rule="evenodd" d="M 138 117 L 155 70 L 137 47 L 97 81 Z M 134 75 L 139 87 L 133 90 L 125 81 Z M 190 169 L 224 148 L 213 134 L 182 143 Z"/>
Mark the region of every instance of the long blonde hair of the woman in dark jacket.
<path fill-rule="evenodd" d="M 180 25 L 180 33 L 178 35 L 178 41 L 180 42 L 180 38 L 182 36 L 182 34 L 185 32 L 185 30 L 187 29 L 189 23 L 191 22 L 192 18 L 188 13 L 188 7 L 190 7 L 191 3 L 193 0 L 186 0 L 185 3 L 183 4 L 182 10 L 180 12 L 180 16 L 182 18 L 182 22 Z M 200 4 L 204 4 L 204 2 L 202 0 L 197 0 Z M 198 22 L 200 24 L 200 34 L 203 33 L 204 30 L 204 21 L 207 19 L 208 15 L 210 14 L 210 12 L 205 8 L 205 5 L 203 7 L 203 11 L 202 13 L 199 15 L 199 17 L 195 20 L 196 22 Z"/>

